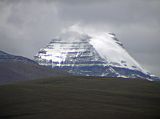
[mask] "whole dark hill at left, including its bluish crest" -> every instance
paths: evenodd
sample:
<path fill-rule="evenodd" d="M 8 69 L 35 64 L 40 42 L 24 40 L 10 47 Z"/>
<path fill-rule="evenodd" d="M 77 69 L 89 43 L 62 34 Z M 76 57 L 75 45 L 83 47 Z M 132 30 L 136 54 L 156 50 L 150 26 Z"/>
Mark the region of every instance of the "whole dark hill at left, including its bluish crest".
<path fill-rule="evenodd" d="M 31 59 L 0 51 L 0 85 L 15 81 L 66 75 L 65 72 L 40 66 Z"/>

